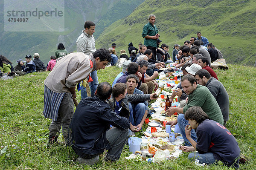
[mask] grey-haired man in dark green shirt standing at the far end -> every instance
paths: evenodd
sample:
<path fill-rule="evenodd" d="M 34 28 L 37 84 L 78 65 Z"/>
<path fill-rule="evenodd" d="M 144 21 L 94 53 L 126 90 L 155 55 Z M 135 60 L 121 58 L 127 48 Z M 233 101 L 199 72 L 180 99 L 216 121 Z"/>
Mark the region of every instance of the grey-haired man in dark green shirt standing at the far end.
<path fill-rule="evenodd" d="M 144 39 L 144 45 L 147 49 L 151 49 L 153 52 L 152 59 L 155 61 L 157 59 L 157 39 L 160 37 L 158 34 L 158 29 L 154 25 L 156 16 L 150 14 L 148 16 L 148 23 L 143 27 L 142 37 Z"/>

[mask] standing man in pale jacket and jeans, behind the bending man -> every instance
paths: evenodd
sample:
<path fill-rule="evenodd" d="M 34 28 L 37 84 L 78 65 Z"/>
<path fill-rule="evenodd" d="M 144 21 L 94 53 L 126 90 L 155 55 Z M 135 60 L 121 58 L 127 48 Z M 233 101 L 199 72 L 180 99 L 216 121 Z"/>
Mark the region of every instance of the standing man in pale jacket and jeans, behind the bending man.
<path fill-rule="evenodd" d="M 76 52 L 83 52 L 86 55 L 96 51 L 95 39 L 93 33 L 95 32 L 95 24 L 92 21 L 86 21 L 84 23 L 84 30 L 82 34 L 76 40 Z M 93 97 L 97 86 L 99 85 L 98 75 L 96 71 L 90 74 L 92 82 L 90 82 L 90 94 Z M 89 82 L 89 81 L 88 81 Z M 81 98 L 87 97 L 86 88 L 81 86 Z"/>

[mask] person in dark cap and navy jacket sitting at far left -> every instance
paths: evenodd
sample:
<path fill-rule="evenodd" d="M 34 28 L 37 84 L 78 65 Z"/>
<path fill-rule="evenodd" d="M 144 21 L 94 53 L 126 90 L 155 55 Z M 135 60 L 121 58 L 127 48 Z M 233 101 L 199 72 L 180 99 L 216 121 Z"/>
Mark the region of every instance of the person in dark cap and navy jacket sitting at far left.
<path fill-rule="evenodd" d="M 22 71 L 16 71 L 15 73 L 17 75 L 26 75 L 28 73 L 35 72 L 35 63 L 31 60 L 31 55 L 26 55 L 26 65 L 24 66 L 24 63 L 20 61 L 20 66 L 22 68 Z"/>

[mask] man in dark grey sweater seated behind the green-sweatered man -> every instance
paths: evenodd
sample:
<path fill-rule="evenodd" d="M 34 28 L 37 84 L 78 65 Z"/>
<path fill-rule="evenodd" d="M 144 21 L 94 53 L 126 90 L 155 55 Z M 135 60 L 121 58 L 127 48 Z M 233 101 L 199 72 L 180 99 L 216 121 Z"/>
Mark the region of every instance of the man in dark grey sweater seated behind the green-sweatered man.
<path fill-rule="evenodd" d="M 224 126 L 229 118 L 229 98 L 225 87 L 214 77 L 211 77 L 210 73 L 206 69 L 198 70 L 195 73 L 195 79 L 198 84 L 207 86 L 213 97 L 216 99 L 224 119 Z"/>

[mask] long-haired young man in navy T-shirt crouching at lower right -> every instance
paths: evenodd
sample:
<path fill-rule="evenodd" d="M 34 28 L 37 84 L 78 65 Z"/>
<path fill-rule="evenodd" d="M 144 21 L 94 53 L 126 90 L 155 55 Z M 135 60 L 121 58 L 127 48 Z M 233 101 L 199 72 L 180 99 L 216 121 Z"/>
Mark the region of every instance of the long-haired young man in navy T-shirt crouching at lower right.
<path fill-rule="evenodd" d="M 216 121 L 209 120 L 208 115 L 201 107 L 190 107 L 185 113 L 186 120 L 186 138 L 192 144 L 192 147 L 181 146 L 180 150 L 190 152 L 188 158 L 198 159 L 199 163 L 214 164 L 222 161 L 228 167 L 239 168 L 240 148 L 234 136 Z M 191 128 L 190 128 L 191 127 Z M 197 142 L 190 136 L 190 131 L 196 129 Z"/>

